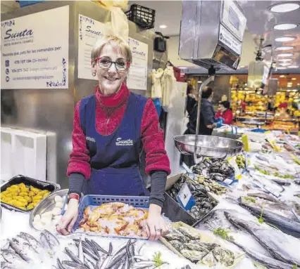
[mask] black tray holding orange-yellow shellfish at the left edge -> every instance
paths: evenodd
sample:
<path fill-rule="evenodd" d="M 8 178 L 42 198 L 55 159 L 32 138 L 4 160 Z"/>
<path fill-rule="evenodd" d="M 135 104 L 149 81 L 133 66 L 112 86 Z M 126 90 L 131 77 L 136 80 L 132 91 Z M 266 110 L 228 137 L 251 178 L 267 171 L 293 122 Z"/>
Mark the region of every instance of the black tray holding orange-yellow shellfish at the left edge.
<path fill-rule="evenodd" d="M 1 192 L 4 192 L 4 190 L 6 190 L 8 187 L 11 187 L 11 185 L 20 184 L 20 183 L 24 183 L 26 186 L 29 186 L 29 185 L 33 186 L 35 188 L 38 188 L 39 190 L 49 190 L 51 192 L 51 194 L 61 189 L 61 186 L 56 183 L 39 181 L 34 178 L 28 178 L 27 176 L 18 175 L 18 176 L 14 176 L 13 178 L 11 178 L 11 180 L 7 181 L 4 185 L 2 185 Z M 42 199 L 42 201 L 43 200 L 44 199 Z M 18 209 L 18 207 L 11 206 L 11 204 L 6 204 L 5 202 L 1 202 L 1 206 L 4 206 L 6 209 L 9 209 L 9 210 L 15 210 L 18 212 L 23 212 L 23 213 L 31 213 L 31 211 L 33 209 L 35 209 L 35 208 L 33 208 L 31 210 Z M 37 207 L 37 206 L 35 206 L 35 207 Z"/>

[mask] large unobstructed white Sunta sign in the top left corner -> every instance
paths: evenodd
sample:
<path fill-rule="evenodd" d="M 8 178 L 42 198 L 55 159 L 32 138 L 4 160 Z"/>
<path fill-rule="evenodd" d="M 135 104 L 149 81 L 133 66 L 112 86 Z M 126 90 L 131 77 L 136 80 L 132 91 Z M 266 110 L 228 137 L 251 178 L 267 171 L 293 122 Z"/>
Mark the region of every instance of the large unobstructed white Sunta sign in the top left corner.
<path fill-rule="evenodd" d="M 68 88 L 69 6 L 1 22 L 1 88 Z"/>

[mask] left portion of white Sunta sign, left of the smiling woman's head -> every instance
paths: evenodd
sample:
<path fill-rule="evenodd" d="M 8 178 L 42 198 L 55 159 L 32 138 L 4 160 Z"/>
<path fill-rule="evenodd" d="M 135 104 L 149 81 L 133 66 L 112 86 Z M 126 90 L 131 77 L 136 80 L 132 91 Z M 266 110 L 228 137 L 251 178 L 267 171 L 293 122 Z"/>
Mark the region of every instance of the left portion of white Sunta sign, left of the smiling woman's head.
<path fill-rule="evenodd" d="M 78 29 L 78 78 L 98 80 L 92 76 L 91 53 L 96 41 L 106 34 L 106 26 L 79 14 Z"/>

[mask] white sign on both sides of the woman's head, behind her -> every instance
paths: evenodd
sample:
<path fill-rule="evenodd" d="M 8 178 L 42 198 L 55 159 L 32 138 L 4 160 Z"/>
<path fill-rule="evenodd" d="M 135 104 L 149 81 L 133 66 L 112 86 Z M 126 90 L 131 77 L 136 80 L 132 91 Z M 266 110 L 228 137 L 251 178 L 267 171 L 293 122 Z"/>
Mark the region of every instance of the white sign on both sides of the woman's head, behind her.
<path fill-rule="evenodd" d="M 79 15 L 79 39 L 78 39 L 78 78 L 94 79 L 92 76 L 91 53 L 97 39 L 108 34 L 109 29 L 101 23 L 84 15 Z M 146 90 L 148 45 L 129 38 L 128 44 L 132 49 L 132 65 L 127 79 L 128 88 Z"/>

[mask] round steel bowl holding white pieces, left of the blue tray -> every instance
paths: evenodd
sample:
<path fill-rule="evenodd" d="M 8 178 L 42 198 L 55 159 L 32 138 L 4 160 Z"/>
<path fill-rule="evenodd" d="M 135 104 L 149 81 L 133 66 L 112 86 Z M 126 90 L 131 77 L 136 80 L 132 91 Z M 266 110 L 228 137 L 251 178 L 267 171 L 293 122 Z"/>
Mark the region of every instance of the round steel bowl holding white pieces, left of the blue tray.
<path fill-rule="evenodd" d="M 30 214 L 30 218 L 29 218 L 30 227 L 37 230 L 33 225 L 33 219 L 35 218 L 35 216 L 37 214 L 41 215 L 47 211 L 51 211 L 52 209 L 54 209 L 55 206 L 54 197 L 56 197 L 56 195 L 61 197 L 68 195 L 68 191 L 69 191 L 68 189 L 58 190 L 57 192 L 52 193 L 51 195 L 43 199 L 41 202 L 39 202 L 39 204 L 35 206 L 35 209 L 33 209 Z"/>

